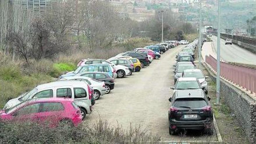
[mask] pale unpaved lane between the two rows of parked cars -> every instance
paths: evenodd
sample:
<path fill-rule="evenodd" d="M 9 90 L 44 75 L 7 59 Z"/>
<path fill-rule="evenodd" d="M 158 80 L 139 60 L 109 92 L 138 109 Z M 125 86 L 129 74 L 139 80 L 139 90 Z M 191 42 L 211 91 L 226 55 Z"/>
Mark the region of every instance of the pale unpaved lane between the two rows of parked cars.
<path fill-rule="evenodd" d="M 188 131 L 182 135 L 170 136 L 168 132 L 168 98 L 173 93 L 173 64 L 182 45 L 168 50 L 160 60 L 154 60 L 149 67 L 132 76 L 115 79 L 115 89 L 102 96 L 85 122 L 94 123 L 99 118 L 111 125 L 141 125 L 152 134 L 158 134 L 163 141 L 214 141 L 216 135 L 208 136 L 201 131 Z"/>

